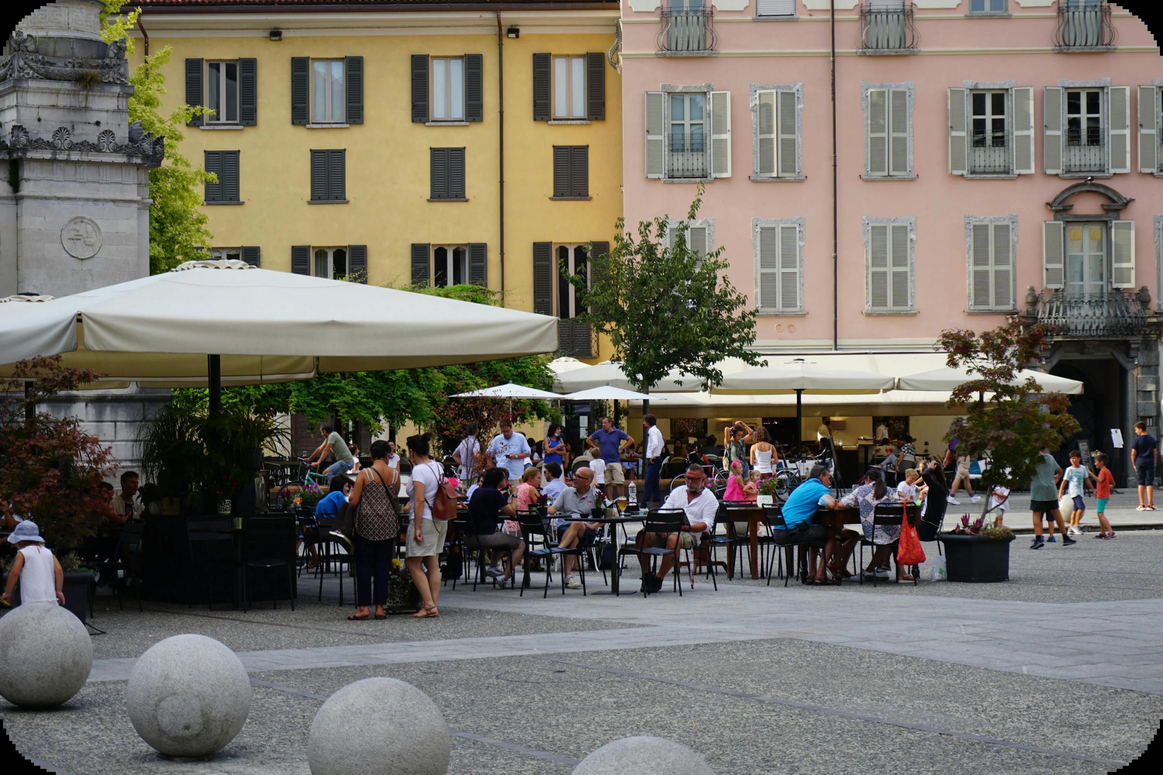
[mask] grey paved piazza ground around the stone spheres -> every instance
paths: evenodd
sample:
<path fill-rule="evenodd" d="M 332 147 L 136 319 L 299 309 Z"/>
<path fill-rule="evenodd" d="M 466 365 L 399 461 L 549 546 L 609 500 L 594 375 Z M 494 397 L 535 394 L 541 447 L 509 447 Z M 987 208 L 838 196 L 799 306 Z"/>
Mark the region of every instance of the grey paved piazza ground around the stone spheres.
<path fill-rule="evenodd" d="M 720 775 L 1113 772 L 1163 717 L 1163 532 L 1028 543 L 1012 544 L 1001 584 L 736 579 L 715 591 L 699 577 L 649 600 L 449 586 L 442 617 L 424 620 L 347 622 L 335 580 L 319 602 L 306 574 L 294 612 L 122 612 L 99 598 L 107 634 L 93 637 L 88 684 L 57 710 L 0 701 L 0 715 L 50 772 L 306 775 L 322 701 L 386 675 L 443 710 L 456 775 L 568 775 L 632 734 L 683 741 Z M 183 632 L 235 650 L 254 684 L 247 725 L 205 763 L 159 759 L 126 713 L 134 659 Z"/>

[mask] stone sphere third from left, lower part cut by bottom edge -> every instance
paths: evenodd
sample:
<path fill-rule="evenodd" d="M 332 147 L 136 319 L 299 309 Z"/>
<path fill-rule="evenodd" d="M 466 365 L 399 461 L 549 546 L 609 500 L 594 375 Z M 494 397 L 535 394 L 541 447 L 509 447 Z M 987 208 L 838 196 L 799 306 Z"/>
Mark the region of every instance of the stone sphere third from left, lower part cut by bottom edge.
<path fill-rule="evenodd" d="M 328 697 L 307 735 L 311 775 L 444 775 L 444 715 L 395 679 L 364 679 Z"/>

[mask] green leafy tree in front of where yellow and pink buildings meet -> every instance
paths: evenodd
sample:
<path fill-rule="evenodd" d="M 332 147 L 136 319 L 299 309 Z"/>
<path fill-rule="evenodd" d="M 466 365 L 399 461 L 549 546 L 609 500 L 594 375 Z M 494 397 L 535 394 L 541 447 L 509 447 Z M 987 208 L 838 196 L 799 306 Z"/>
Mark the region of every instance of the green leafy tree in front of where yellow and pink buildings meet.
<path fill-rule="evenodd" d="M 691 389 L 698 389 L 722 380 L 718 365 L 723 358 L 759 363 L 751 350 L 755 311 L 725 274 L 723 247 L 700 256 L 687 243 L 701 203 L 700 184 L 672 247 L 666 246 L 669 216 L 640 222 L 637 239 L 619 218 L 609 254 L 590 257 L 588 282 L 562 267 L 590 310 L 582 320 L 609 337 L 613 360 L 643 393 L 672 368 L 691 374 Z"/>

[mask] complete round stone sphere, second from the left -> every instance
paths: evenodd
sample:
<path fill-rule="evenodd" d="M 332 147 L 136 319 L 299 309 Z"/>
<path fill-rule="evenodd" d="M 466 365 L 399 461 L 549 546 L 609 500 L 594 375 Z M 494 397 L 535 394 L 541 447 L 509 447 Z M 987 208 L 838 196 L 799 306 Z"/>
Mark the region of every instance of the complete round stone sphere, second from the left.
<path fill-rule="evenodd" d="M 129 675 L 126 705 L 142 740 L 167 756 L 204 758 L 230 742 L 250 712 L 250 679 L 206 636 L 154 644 Z"/>

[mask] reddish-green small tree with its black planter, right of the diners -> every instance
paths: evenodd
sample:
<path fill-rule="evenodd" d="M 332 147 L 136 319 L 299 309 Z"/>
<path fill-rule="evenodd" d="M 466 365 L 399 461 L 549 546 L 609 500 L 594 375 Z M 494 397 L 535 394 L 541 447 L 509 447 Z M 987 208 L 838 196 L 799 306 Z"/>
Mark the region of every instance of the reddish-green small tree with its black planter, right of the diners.
<path fill-rule="evenodd" d="M 982 514 L 963 517 L 952 532 L 937 540 L 946 547 L 949 581 L 1006 581 L 1009 579 L 1009 543 L 1013 531 L 989 525 L 990 494 L 996 486 L 1027 487 L 1043 449 L 1056 449 L 1078 431 L 1061 393 L 1043 393 L 1030 376 L 1019 379 L 1027 364 L 1036 363 L 1053 328 L 1026 326 L 1018 321 L 980 336 L 972 331 L 941 332 L 937 346 L 948 353 L 950 368 L 964 368 L 970 379 L 950 394 L 948 406 L 964 414 L 949 425 L 946 440 L 957 439 L 957 454 L 990 458 L 982 472 Z"/>

